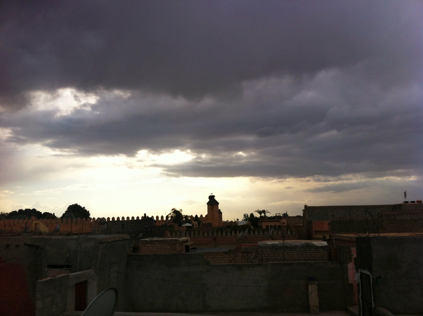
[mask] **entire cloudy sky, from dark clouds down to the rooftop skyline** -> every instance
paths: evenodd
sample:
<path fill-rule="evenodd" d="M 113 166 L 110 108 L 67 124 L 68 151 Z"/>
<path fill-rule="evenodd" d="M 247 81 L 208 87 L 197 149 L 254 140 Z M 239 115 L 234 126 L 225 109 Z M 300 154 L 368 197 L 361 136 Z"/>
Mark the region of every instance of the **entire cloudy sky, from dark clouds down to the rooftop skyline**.
<path fill-rule="evenodd" d="M 420 1 L 0 3 L 0 211 L 423 198 Z"/>

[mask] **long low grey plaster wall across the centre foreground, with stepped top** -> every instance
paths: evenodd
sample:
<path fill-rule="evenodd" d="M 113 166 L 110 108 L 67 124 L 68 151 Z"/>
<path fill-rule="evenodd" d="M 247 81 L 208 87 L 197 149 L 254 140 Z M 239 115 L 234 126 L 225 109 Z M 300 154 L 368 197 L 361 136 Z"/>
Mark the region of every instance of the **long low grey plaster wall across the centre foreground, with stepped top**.
<path fill-rule="evenodd" d="M 132 312 L 308 312 L 310 276 L 321 311 L 352 304 L 341 262 L 209 264 L 202 253 L 129 254 L 127 273 Z"/>

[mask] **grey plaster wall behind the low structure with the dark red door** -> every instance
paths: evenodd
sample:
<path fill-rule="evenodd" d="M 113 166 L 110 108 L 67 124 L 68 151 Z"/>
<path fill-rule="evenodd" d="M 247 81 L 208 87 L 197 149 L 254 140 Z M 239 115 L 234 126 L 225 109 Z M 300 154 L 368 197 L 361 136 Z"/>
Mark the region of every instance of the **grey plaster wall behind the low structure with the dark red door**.
<path fill-rule="evenodd" d="M 65 264 L 71 266 L 71 273 L 95 269 L 98 277 L 97 293 L 115 287 L 120 294 L 117 310 L 125 311 L 126 301 L 123 297 L 127 238 L 129 237 L 125 235 L 3 236 L 0 237 L 0 261 L 6 267 L 22 267 L 22 274 L 16 278 L 26 280 L 27 287 L 22 287 L 22 297 L 25 297 L 27 291 L 33 311 L 36 302 L 36 281 L 48 277 L 49 265 Z M 16 306 L 15 294 L 7 289 L 0 300 L 3 306 Z"/>

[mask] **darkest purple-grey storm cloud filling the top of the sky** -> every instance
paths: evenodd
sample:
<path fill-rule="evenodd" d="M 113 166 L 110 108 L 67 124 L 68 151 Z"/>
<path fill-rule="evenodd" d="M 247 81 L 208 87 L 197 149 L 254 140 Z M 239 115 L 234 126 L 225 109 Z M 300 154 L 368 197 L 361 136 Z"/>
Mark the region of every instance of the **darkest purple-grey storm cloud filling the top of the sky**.
<path fill-rule="evenodd" d="M 195 99 L 231 93 L 243 80 L 358 62 L 371 77 L 403 81 L 418 75 L 422 9 L 408 1 L 5 1 L 0 96 L 4 107 L 25 103 L 26 91 L 62 87 Z"/>

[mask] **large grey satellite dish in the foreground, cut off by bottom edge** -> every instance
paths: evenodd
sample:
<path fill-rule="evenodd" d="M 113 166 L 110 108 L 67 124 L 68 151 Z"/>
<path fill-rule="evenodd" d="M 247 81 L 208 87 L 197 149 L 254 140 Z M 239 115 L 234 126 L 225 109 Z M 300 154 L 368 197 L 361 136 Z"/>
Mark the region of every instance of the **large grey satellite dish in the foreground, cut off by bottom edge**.
<path fill-rule="evenodd" d="M 97 295 L 81 316 L 113 316 L 117 304 L 118 290 L 110 288 Z"/>

